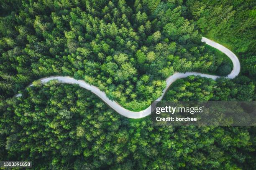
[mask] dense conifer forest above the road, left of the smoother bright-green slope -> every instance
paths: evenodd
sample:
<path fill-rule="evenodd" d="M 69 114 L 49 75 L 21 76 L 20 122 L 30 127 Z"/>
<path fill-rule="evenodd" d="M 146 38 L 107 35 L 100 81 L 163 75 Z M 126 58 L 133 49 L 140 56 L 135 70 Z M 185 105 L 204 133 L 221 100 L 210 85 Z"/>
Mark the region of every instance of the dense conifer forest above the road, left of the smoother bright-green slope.
<path fill-rule="evenodd" d="M 24 1 L 12 12 L 2 3 L 2 97 L 38 77 L 69 75 L 136 110 L 161 96 L 174 71 L 215 73 L 224 65 L 227 75 L 233 67 L 200 41 L 180 2 Z"/>

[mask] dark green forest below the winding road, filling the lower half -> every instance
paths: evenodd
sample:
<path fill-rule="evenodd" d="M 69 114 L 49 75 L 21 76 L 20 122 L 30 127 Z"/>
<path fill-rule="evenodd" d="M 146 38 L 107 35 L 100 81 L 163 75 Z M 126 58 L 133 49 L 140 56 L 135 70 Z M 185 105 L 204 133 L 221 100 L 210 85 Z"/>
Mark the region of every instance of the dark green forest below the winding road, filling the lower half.
<path fill-rule="evenodd" d="M 193 76 L 182 81 L 187 94 L 202 89 L 202 100 L 214 89 L 207 84 L 215 84 Z M 177 97 L 167 95 L 180 100 L 183 82 L 171 89 Z M 91 92 L 55 81 L 0 102 L 0 128 L 0 160 L 33 161 L 34 169 L 255 169 L 255 128 L 161 127 L 149 117 L 129 121 Z"/>

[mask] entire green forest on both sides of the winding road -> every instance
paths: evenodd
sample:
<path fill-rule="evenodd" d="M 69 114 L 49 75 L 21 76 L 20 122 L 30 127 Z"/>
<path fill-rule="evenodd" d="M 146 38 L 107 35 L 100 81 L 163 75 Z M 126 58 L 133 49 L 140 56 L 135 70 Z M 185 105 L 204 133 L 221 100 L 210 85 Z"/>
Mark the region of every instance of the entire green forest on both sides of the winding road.
<path fill-rule="evenodd" d="M 203 35 L 236 53 L 241 74 L 179 79 L 164 100 L 255 100 L 255 3 L 1 0 L 0 161 L 32 161 L 41 170 L 255 170 L 254 127 L 153 126 L 77 85 L 33 82 L 72 76 L 142 110 L 176 71 L 230 73 L 232 62 Z"/>

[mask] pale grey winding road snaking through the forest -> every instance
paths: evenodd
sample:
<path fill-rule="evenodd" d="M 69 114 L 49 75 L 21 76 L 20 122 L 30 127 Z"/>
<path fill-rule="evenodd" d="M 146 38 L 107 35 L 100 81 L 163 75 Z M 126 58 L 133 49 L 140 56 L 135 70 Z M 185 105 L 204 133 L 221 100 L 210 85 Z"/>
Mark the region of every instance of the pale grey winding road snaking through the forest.
<path fill-rule="evenodd" d="M 228 48 L 224 47 L 223 45 L 218 44 L 217 42 L 214 42 L 212 40 L 209 40 L 205 37 L 202 37 L 202 42 L 205 42 L 206 44 L 220 50 L 223 52 L 225 55 L 227 55 L 233 62 L 233 70 L 230 72 L 230 74 L 227 76 L 228 78 L 232 79 L 236 77 L 239 72 L 240 72 L 240 62 L 238 60 L 238 57 L 236 55 L 228 50 Z M 162 100 L 164 97 L 165 92 L 167 91 L 168 87 L 177 79 L 187 77 L 189 75 L 200 75 L 201 77 L 207 77 L 207 78 L 212 78 L 213 80 L 216 80 L 218 77 L 217 75 L 207 75 L 207 74 L 202 74 L 199 72 L 185 72 L 185 73 L 180 73 L 180 72 L 175 72 L 173 75 L 168 77 L 166 79 L 166 88 L 163 91 L 163 94 L 161 97 L 159 97 L 156 101 Z M 41 78 L 40 81 L 42 83 L 49 82 L 50 80 L 58 80 L 60 83 L 67 83 L 67 84 L 78 84 L 80 87 L 85 88 L 87 90 L 92 91 L 95 95 L 100 97 L 106 104 L 108 104 L 113 110 L 118 112 L 120 115 L 123 115 L 128 118 L 133 118 L 133 119 L 138 119 L 142 117 L 146 117 L 151 114 L 151 106 L 146 108 L 145 110 L 141 110 L 139 112 L 133 112 L 130 110 L 127 110 L 123 108 L 121 105 L 119 105 L 115 101 L 111 101 L 108 99 L 106 96 L 105 92 L 100 91 L 98 87 L 95 87 L 93 85 L 89 85 L 88 83 L 84 82 L 84 80 L 75 80 L 72 77 L 67 77 L 67 76 L 52 76 L 52 77 L 46 77 L 46 78 Z M 32 84 L 29 86 L 33 86 Z M 16 97 L 21 96 L 21 94 L 15 95 Z"/>

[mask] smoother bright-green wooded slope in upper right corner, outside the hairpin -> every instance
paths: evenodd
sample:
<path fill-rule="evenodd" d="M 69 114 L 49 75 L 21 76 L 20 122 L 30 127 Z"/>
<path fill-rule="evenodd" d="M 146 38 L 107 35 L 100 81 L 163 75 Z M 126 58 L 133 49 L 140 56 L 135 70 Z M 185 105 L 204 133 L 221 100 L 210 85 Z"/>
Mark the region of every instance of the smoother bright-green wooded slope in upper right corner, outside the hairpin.
<path fill-rule="evenodd" d="M 189 19 L 203 35 L 216 40 L 238 54 L 242 72 L 256 76 L 256 1 L 187 0 Z"/>

